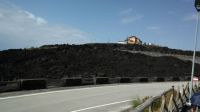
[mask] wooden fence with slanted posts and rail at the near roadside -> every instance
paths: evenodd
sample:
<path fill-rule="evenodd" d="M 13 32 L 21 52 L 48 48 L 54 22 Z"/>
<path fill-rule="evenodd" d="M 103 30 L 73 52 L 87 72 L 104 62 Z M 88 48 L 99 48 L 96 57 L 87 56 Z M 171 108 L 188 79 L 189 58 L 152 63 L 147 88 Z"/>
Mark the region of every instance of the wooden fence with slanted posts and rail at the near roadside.
<path fill-rule="evenodd" d="M 195 93 L 199 90 L 199 85 L 196 84 L 192 88 L 192 92 Z M 167 95 L 167 93 L 171 94 Z M 169 97 L 170 96 L 170 97 Z M 181 112 L 182 107 L 186 105 L 186 102 L 189 99 L 189 83 L 184 87 L 182 87 L 182 90 L 180 87 L 178 89 L 175 89 L 174 86 L 172 86 L 172 89 L 169 89 L 155 97 L 152 97 L 148 100 L 146 100 L 144 103 L 136 107 L 135 109 L 127 108 L 126 110 L 123 110 L 121 112 Z M 160 108 L 157 108 L 155 110 L 154 104 L 160 100 Z"/>

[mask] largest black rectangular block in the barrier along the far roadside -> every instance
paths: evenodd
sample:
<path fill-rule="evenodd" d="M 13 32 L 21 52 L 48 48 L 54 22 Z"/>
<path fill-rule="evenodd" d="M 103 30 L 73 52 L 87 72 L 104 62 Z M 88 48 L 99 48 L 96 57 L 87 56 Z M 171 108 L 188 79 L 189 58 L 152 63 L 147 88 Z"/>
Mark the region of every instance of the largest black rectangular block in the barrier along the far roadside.
<path fill-rule="evenodd" d="M 21 90 L 34 90 L 47 88 L 46 79 L 21 79 L 19 80 Z"/>

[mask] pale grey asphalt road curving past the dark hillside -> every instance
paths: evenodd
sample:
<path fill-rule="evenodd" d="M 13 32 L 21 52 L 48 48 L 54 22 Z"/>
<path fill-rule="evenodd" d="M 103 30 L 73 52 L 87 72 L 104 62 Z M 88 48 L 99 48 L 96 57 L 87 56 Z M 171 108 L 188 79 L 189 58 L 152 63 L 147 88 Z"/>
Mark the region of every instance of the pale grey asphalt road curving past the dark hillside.
<path fill-rule="evenodd" d="M 1 112 L 115 112 L 186 82 L 134 83 L 0 97 Z"/>

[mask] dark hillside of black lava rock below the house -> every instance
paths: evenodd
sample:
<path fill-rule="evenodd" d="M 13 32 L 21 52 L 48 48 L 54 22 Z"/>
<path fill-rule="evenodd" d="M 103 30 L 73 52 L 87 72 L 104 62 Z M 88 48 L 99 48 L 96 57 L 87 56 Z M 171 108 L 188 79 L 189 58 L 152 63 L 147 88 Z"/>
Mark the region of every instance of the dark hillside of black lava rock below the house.
<path fill-rule="evenodd" d="M 1 80 L 94 75 L 167 77 L 185 76 L 191 72 L 191 61 L 188 60 L 122 50 L 192 55 L 191 51 L 167 47 L 120 44 L 46 45 L 33 49 L 10 49 L 0 52 L 0 77 Z M 200 53 L 197 52 L 197 55 L 200 56 Z M 196 68 L 199 67 L 196 64 Z M 200 70 L 195 69 L 195 72 L 199 74 Z"/>

